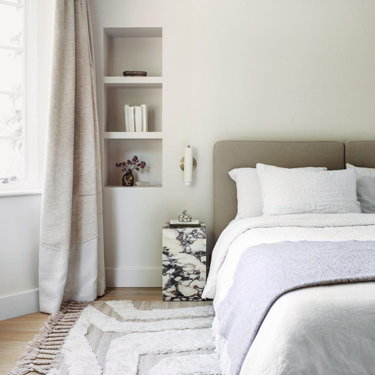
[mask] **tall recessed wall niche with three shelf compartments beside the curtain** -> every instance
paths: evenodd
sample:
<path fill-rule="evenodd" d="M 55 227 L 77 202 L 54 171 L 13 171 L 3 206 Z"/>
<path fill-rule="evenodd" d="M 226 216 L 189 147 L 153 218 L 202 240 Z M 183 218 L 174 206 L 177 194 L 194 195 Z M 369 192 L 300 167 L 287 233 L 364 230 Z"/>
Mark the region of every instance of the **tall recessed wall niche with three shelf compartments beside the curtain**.
<path fill-rule="evenodd" d="M 122 188 L 123 172 L 115 164 L 133 155 L 147 165 L 135 171 L 135 181 L 150 181 L 149 187 L 161 187 L 162 28 L 104 28 L 103 51 L 104 187 Z M 123 77 L 125 70 L 146 71 L 147 77 Z M 148 132 L 125 132 L 124 104 L 148 104 Z"/>

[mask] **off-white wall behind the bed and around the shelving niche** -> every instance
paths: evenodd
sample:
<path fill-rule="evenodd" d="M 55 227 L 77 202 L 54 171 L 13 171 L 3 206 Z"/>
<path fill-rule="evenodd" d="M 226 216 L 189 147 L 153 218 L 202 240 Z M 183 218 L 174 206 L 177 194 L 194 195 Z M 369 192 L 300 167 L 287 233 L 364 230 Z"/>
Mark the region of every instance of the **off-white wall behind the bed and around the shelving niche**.
<path fill-rule="evenodd" d="M 163 27 L 163 187 L 156 200 L 104 193 L 109 286 L 161 284 L 161 226 L 183 209 L 206 222 L 212 249 L 215 142 L 375 139 L 372 0 L 90 4 L 98 77 L 103 27 Z M 100 89 L 98 101 L 101 118 Z M 190 187 L 178 166 L 187 144 Z"/>

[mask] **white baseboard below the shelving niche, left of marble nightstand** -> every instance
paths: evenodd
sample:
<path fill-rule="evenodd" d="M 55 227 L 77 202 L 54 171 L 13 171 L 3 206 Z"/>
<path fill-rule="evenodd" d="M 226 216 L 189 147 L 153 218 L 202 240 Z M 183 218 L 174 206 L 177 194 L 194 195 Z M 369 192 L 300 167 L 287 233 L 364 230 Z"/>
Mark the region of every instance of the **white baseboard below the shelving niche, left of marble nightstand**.
<path fill-rule="evenodd" d="M 162 267 L 106 268 L 107 287 L 161 287 Z"/>

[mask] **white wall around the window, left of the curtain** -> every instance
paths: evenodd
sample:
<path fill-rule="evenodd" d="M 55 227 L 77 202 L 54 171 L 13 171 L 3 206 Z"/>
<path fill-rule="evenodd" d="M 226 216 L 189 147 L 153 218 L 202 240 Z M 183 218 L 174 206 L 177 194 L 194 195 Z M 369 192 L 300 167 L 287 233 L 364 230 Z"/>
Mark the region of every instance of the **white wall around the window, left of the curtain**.
<path fill-rule="evenodd" d="M 53 1 L 38 0 L 37 5 L 38 151 L 39 174 L 42 174 Z M 39 309 L 35 290 L 38 288 L 40 202 L 40 194 L 0 196 L 0 320 Z"/>

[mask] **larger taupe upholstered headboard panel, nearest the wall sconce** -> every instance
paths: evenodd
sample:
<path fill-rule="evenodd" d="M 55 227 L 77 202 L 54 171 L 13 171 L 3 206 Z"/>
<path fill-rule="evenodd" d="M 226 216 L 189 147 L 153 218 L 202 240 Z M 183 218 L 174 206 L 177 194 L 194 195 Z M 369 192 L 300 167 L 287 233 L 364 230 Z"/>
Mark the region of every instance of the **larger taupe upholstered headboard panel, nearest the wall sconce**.
<path fill-rule="evenodd" d="M 326 166 L 328 169 L 344 169 L 344 144 L 335 141 L 217 142 L 214 145 L 215 243 L 237 213 L 236 183 L 229 177 L 228 172 L 233 168 L 255 168 L 257 163 L 284 168 Z"/>

